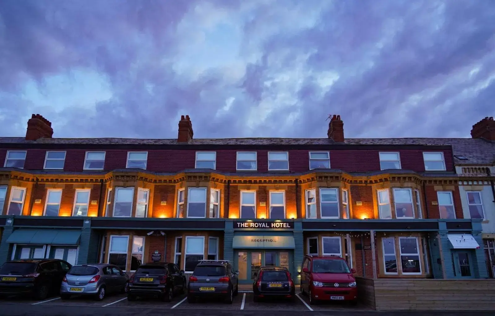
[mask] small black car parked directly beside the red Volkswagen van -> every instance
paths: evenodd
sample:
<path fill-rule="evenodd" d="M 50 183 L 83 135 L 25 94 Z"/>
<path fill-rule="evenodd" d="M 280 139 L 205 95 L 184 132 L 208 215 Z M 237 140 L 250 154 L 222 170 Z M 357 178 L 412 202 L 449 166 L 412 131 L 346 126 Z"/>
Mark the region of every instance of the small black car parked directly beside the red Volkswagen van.
<path fill-rule="evenodd" d="M 287 268 L 261 267 L 252 284 L 253 301 L 260 298 L 280 297 L 296 301 L 296 286 Z"/>

